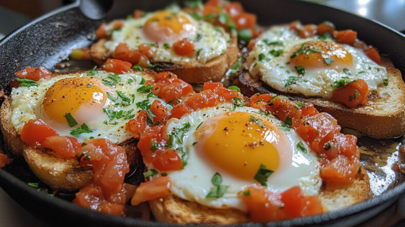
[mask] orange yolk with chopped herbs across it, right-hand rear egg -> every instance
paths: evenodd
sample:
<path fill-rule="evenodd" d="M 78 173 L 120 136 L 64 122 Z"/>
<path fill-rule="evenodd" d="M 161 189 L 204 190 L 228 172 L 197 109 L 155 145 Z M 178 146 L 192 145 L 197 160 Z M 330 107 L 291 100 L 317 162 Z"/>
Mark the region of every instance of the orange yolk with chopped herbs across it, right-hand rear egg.
<path fill-rule="evenodd" d="M 352 54 L 341 45 L 329 41 L 315 40 L 293 47 L 289 55 L 290 63 L 307 68 L 336 67 L 337 69 L 353 66 Z"/>

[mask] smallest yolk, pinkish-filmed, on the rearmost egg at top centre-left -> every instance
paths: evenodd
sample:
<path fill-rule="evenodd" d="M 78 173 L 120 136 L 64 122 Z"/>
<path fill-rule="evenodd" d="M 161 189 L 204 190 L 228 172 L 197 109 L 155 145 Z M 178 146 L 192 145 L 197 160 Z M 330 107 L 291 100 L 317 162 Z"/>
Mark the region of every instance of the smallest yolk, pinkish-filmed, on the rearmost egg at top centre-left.
<path fill-rule="evenodd" d="M 143 33 L 155 42 L 176 42 L 193 28 L 187 14 L 163 10 L 146 20 Z"/>

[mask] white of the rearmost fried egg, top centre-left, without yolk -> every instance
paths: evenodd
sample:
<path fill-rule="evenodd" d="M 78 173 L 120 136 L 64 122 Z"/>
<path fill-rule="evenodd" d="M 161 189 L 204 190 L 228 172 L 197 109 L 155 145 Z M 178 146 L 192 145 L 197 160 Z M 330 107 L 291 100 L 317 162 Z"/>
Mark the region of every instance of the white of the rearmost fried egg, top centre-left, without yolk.
<path fill-rule="evenodd" d="M 195 24 L 195 28 L 183 37 L 189 38 L 195 45 L 195 54 L 191 56 L 179 56 L 173 51 L 173 43 L 178 40 L 165 42 L 170 46 L 167 48 L 164 47 L 164 43 L 155 43 L 145 36 L 142 26 L 153 16 L 153 13 L 148 13 L 141 18 L 127 18 L 124 20 L 124 26 L 119 30 L 113 30 L 113 23 L 106 25 L 106 30 L 112 31 L 112 36 L 104 46 L 113 53 L 119 43 L 127 44 L 130 49 L 137 49 L 141 44 L 152 44 L 152 61 L 193 65 L 205 64 L 226 51 L 230 36 L 223 28 L 215 27 L 204 20 L 194 20 L 182 11 L 175 12 L 186 15 Z"/>

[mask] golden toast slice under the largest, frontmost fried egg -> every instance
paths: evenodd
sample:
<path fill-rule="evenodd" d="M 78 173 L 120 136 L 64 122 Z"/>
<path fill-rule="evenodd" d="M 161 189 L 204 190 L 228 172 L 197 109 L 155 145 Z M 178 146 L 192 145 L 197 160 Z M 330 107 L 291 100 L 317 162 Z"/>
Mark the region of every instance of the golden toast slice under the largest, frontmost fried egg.
<path fill-rule="evenodd" d="M 318 198 L 325 212 L 349 207 L 372 197 L 364 168 L 349 184 L 324 185 Z M 236 209 L 214 209 L 171 195 L 149 202 L 157 221 L 175 224 L 234 224 L 249 222 L 249 214 Z"/>

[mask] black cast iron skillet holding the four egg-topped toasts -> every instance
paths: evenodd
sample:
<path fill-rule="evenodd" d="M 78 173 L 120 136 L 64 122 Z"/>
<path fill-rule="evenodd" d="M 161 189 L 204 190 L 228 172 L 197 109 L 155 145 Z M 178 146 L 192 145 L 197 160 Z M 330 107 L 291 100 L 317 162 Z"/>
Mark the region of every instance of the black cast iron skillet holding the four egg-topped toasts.
<path fill-rule="evenodd" d="M 178 1 L 182 2 L 182 1 Z M 255 13 L 259 24 L 288 23 L 300 19 L 305 23 L 333 22 L 337 29 L 353 29 L 367 44 L 389 54 L 396 68 L 405 75 L 405 36 L 373 20 L 333 8 L 295 1 L 240 0 L 246 11 Z M 0 42 L 0 89 L 8 90 L 14 72 L 25 66 L 54 65 L 66 58 L 72 48 L 82 48 L 94 42 L 94 32 L 103 20 L 125 17 L 133 9 L 152 11 L 168 4 L 164 0 L 147 1 L 77 1 L 46 14 L 17 29 Z M 181 4 L 180 4 L 181 5 Z M 58 225 L 124 225 L 162 226 L 159 222 L 140 221 L 92 212 L 60 198 L 39 193 L 8 172 L 0 169 L 0 186 L 35 216 Z M 380 196 L 352 207 L 325 214 L 296 218 L 266 225 L 355 225 L 384 209 L 398 198 L 403 198 L 405 182 Z M 247 223 L 245 226 L 261 225 Z"/>

